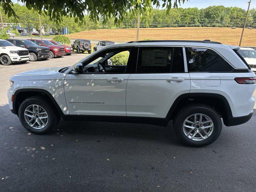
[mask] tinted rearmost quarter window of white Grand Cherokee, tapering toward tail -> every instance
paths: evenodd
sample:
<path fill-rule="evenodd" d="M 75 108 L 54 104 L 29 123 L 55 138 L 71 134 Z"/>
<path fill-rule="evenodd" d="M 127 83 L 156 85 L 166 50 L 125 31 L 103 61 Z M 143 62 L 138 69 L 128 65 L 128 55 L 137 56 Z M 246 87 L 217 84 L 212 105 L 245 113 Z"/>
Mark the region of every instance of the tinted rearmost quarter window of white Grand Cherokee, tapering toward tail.
<path fill-rule="evenodd" d="M 186 48 L 188 72 L 230 72 L 233 68 L 215 51 Z"/>

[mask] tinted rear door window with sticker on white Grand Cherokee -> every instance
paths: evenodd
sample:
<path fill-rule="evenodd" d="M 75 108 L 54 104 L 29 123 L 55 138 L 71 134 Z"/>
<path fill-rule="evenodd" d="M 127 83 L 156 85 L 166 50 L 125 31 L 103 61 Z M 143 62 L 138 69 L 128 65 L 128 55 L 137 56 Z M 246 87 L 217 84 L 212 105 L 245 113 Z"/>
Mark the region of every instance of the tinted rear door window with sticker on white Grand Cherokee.
<path fill-rule="evenodd" d="M 184 58 L 182 47 L 139 48 L 136 72 L 184 72 Z"/>

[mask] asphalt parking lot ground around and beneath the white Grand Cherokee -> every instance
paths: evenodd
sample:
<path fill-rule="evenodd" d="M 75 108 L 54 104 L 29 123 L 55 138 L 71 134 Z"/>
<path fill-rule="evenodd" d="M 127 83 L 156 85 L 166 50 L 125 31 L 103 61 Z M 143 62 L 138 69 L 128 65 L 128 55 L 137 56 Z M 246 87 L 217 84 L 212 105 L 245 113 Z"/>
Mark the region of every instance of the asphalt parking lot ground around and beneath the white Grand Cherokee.
<path fill-rule="evenodd" d="M 10 76 L 70 66 L 84 56 L 0 66 L 1 192 L 255 191 L 256 110 L 246 124 L 223 126 L 218 140 L 203 148 L 182 145 L 172 122 L 61 121 L 50 134 L 30 134 L 9 110 Z"/>

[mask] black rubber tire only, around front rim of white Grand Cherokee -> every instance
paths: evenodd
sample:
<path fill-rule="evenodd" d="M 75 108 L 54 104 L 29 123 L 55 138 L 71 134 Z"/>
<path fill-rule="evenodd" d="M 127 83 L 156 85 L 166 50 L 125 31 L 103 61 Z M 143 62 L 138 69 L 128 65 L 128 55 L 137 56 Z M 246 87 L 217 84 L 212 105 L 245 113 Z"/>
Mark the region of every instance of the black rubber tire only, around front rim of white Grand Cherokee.
<path fill-rule="evenodd" d="M 44 108 L 44 110 L 48 114 L 48 122 L 44 128 L 41 128 L 41 129 L 33 128 L 30 125 L 28 125 L 28 123 L 25 120 L 24 112 L 28 106 L 33 104 L 41 106 L 42 108 Z M 58 115 L 58 112 L 56 112 L 56 110 L 50 106 L 49 102 L 44 98 L 36 97 L 36 96 L 30 97 L 24 100 L 19 107 L 18 114 L 19 114 L 20 122 L 24 126 L 24 128 L 36 134 L 46 134 L 50 132 L 53 128 L 55 128 L 58 125 L 58 122 L 60 120 L 60 116 Z"/>

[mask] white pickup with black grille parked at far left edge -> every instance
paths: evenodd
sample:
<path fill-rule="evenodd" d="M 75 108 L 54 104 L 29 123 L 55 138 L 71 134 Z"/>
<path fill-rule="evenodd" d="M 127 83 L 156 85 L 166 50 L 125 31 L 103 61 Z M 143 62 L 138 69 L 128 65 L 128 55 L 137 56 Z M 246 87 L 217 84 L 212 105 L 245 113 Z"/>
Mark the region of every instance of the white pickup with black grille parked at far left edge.
<path fill-rule="evenodd" d="M 3 65 L 27 62 L 29 52 L 26 48 L 16 47 L 6 40 L 0 39 L 0 60 Z"/>

